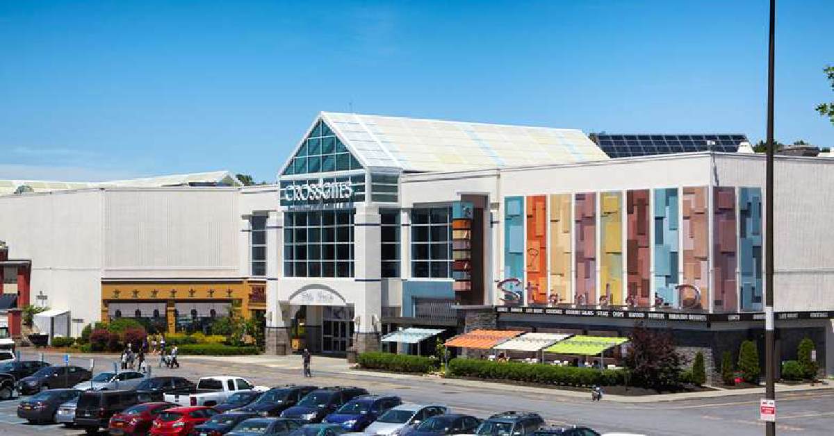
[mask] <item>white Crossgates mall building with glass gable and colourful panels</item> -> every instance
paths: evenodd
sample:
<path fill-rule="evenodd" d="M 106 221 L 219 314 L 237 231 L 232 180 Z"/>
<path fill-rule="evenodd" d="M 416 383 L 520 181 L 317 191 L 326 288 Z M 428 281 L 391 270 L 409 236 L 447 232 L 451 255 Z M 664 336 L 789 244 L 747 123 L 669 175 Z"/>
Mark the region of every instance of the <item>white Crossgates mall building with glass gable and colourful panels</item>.
<path fill-rule="evenodd" d="M 765 159 L 736 152 L 744 141 L 320 113 L 275 185 L 9 194 L 0 239 L 31 261 L 31 293 L 83 323 L 159 299 L 168 319 L 211 318 L 183 301 L 218 313 L 261 287 L 248 304 L 269 353 L 434 346 L 380 343 L 405 327 L 625 336 L 644 323 L 716 367 L 742 340 L 763 344 Z M 777 157 L 774 204 L 778 358 L 808 337 L 827 373 L 832 165 Z"/>

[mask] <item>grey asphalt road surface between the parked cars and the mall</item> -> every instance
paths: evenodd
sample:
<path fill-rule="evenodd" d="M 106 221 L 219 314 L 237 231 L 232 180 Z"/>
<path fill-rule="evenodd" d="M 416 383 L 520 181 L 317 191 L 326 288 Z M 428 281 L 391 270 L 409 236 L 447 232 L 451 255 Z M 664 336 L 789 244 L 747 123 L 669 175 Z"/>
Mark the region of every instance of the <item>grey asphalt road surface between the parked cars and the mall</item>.
<path fill-rule="evenodd" d="M 24 353 L 24 358 L 31 358 Z M 95 372 L 112 368 L 114 356 L 96 358 Z M 53 364 L 63 364 L 60 355 L 47 355 Z M 764 425 L 758 420 L 759 395 L 722 398 L 691 398 L 651 403 L 590 402 L 582 396 L 509 390 L 493 383 L 460 386 L 442 379 L 391 377 L 346 370 L 343 360 L 314 358 L 314 378 L 301 378 L 298 356 L 239 358 L 180 358 L 182 368 L 157 368 L 153 374 L 177 374 L 196 381 L 201 376 L 239 375 L 261 385 L 314 383 L 319 386 L 349 385 L 367 388 L 371 393 L 399 395 L 414 403 L 443 403 L 453 411 L 485 418 L 505 410 L 538 412 L 549 423 L 586 425 L 602 432 L 628 432 L 647 435 L 733 434 L 761 435 Z M 71 363 L 88 367 L 89 357 L 71 358 Z M 30 425 L 17 418 L 18 400 L 0 403 L 0 434 L 81 434 L 83 432 L 52 425 Z M 780 434 L 830 435 L 834 428 L 834 389 L 781 393 L 777 399 L 777 430 Z M 103 432 L 104 434 L 104 432 Z"/>

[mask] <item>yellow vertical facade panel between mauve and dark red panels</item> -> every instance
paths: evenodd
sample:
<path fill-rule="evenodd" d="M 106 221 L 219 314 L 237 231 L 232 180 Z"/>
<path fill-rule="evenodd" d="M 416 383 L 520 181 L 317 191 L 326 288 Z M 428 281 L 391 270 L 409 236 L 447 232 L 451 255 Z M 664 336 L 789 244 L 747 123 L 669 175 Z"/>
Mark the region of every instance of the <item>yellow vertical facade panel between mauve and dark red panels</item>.
<path fill-rule="evenodd" d="M 622 193 L 600 193 L 600 304 L 623 301 Z"/>

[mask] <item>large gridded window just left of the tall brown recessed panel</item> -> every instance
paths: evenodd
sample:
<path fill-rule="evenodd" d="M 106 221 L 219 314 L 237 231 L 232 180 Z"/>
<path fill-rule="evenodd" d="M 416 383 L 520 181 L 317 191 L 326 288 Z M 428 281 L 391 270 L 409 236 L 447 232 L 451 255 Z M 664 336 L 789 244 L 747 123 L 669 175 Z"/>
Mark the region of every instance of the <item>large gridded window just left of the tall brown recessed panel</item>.
<path fill-rule="evenodd" d="M 413 277 L 451 277 L 452 208 L 411 211 L 411 261 Z"/>

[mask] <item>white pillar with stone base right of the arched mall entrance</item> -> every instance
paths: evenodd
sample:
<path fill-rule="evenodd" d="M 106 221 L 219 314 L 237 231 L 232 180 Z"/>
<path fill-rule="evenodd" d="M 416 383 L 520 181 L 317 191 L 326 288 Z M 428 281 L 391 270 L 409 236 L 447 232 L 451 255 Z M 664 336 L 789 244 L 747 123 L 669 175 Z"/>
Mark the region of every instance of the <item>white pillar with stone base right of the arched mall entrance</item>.
<path fill-rule="evenodd" d="M 354 303 L 354 344 L 348 351 L 349 361 L 357 353 L 379 351 L 379 318 L 382 314 L 379 240 L 379 208 L 357 206 L 354 214 L 354 280 L 364 283 L 364 293 Z"/>

